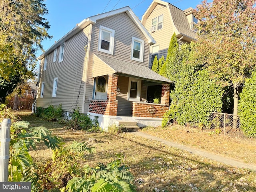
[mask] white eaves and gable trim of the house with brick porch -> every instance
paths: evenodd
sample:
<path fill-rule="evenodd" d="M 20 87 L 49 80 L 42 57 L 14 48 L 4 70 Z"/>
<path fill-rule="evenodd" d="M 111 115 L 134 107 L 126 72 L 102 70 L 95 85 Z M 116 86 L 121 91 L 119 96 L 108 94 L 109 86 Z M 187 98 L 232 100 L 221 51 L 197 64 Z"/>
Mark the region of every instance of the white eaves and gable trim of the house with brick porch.
<path fill-rule="evenodd" d="M 138 28 L 141 30 L 141 32 L 144 34 L 144 36 L 147 38 L 148 43 L 150 45 L 155 44 L 156 41 L 151 36 L 151 34 L 148 32 L 148 30 L 146 30 L 146 28 L 142 25 L 142 23 L 140 22 L 138 17 L 131 10 L 131 8 L 129 6 L 126 6 L 126 7 L 120 8 L 120 9 L 112 10 L 110 12 L 106 12 L 106 13 L 98 14 L 98 15 L 95 15 L 95 16 L 91 16 L 91 17 L 88 17 L 87 19 L 82 20 L 70 32 L 68 32 L 66 35 L 64 35 L 60 40 L 58 40 L 55 44 L 53 44 L 48 50 L 46 50 L 43 54 L 41 54 L 38 57 L 38 59 L 44 58 L 44 56 L 46 56 L 47 54 L 52 52 L 55 48 L 60 46 L 62 43 L 64 43 L 66 40 L 70 39 L 72 36 L 74 36 L 75 34 L 80 32 L 81 30 L 86 28 L 86 26 L 88 26 L 89 24 L 95 24 L 97 22 L 97 20 L 104 19 L 104 18 L 107 18 L 107 17 L 111 17 L 111 16 L 121 14 L 121 13 L 124 13 L 124 12 L 131 18 L 131 20 L 136 24 L 136 26 L 138 26 Z"/>

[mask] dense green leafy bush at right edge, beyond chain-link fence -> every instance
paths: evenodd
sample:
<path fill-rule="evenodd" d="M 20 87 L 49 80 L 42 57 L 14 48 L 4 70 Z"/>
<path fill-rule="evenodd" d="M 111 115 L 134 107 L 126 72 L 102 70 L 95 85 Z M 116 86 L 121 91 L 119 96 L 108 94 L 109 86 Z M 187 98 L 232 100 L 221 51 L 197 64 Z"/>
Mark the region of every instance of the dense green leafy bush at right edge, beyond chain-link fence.
<path fill-rule="evenodd" d="M 256 72 L 245 81 L 238 103 L 241 128 L 245 135 L 256 137 Z"/>

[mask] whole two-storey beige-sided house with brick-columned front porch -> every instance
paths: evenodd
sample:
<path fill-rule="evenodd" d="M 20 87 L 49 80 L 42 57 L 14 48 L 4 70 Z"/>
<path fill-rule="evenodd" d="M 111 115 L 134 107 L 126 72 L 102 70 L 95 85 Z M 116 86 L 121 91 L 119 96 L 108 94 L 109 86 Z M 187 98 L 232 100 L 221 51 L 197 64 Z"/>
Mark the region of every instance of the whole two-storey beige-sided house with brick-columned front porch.
<path fill-rule="evenodd" d="M 161 124 L 170 80 L 148 68 L 154 38 L 129 7 L 89 17 L 42 55 L 36 106 L 62 105 L 98 116 L 102 128 L 118 121 Z M 162 85 L 161 104 L 147 102 Z"/>

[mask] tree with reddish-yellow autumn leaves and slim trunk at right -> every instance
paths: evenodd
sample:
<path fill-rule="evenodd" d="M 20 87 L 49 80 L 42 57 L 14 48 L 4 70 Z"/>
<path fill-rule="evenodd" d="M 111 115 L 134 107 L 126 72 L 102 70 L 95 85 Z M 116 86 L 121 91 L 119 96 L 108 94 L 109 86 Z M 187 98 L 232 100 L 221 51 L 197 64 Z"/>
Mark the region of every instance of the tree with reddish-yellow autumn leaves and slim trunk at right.
<path fill-rule="evenodd" d="M 255 69 L 256 0 L 206 0 L 197 6 L 198 59 L 210 76 L 234 88 L 234 115 L 238 90 Z"/>

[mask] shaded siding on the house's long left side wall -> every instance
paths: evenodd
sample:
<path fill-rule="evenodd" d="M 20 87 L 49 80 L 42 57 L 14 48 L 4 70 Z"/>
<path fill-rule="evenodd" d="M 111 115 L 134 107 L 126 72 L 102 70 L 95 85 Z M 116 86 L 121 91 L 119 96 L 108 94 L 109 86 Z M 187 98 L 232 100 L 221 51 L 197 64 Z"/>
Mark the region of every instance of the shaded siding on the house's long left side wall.
<path fill-rule="evenodd" d="M 88 43 L 87 36 L 88 30 L 84 30 L 65 42 L 62 62 L 58 62 L 60 47 L 57 50 L 56 62 L 53 62 L 54 50 L 48 54 L 47 68 L 45 71 L 41 70 L 40 75 L 40 82 L 45 82 L 44 97 L 38 96 L 37 106 L 47 108 L 49 105 L 62 104 L 64 111 L 72 111 L 76 107 L 81 110 L 84 91 L 82 76 L 86 54 L 84 46 Z M 54 78 L 58 78 L 56 97 L 52 97 Z"/>

